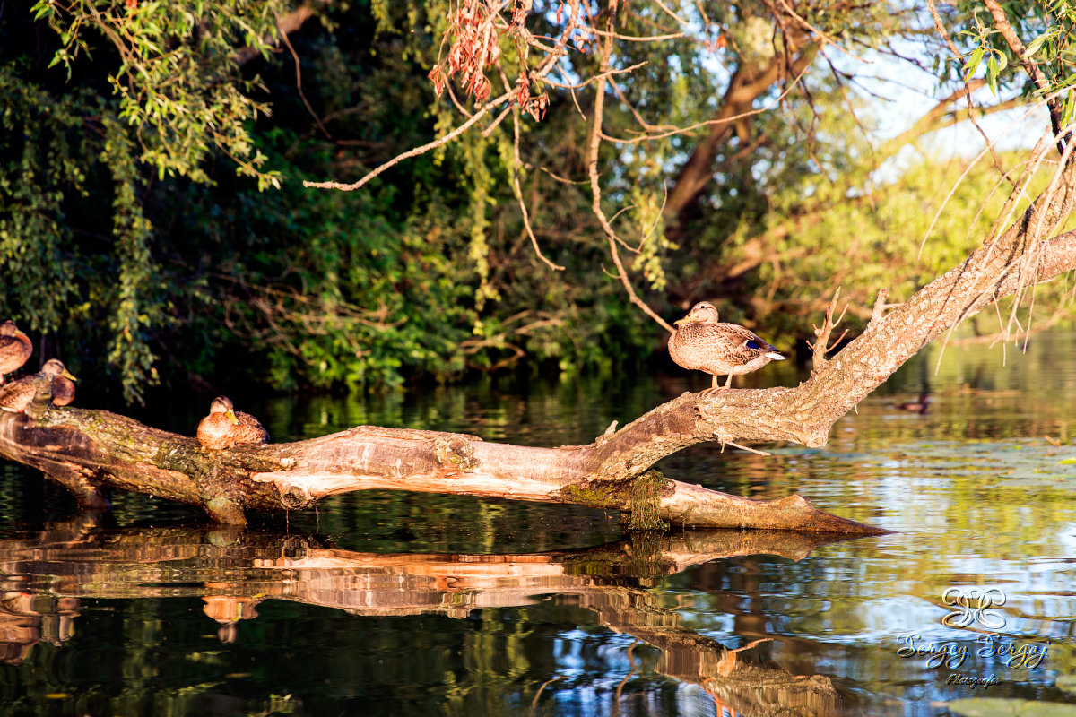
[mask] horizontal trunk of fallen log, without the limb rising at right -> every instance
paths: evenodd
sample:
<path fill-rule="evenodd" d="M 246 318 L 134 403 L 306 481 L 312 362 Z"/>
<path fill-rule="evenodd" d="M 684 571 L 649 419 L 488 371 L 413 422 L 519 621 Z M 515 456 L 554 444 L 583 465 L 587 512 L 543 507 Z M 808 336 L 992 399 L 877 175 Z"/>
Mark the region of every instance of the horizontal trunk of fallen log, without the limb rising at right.
<path fill-rule="evenodd" d="M 359 426 L 331 435 L 213 450 L 192 438 L 105 411 L 55 407 L 47 385 L 26 414 L 0 416 L 0 456 L 40 469 L 80 505 L 108 505 L 105 487 L 197 505 L 214 520 L 245 511 L 298 511 L 352 490 L 388 488 L 547 501 L 621 511 L 633 528 L 884 531 L 816 511 L 792 496 L 755 501 L 669 481 L 654 471 L 597 479 L 598 444 L 533 448 L 438 431 Z"/>

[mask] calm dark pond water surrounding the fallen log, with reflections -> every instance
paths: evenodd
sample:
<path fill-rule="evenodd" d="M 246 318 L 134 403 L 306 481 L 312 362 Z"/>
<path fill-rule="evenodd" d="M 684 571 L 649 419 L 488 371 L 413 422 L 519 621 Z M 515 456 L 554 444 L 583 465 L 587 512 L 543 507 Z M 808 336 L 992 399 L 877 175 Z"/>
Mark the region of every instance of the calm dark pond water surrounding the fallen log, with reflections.
<path fill-rule="evenodd" d="M 396 492 L 254 516 L 242 532 L 141 496 L 80 516 L 40 474 L 3 465 L 0 712 L 951 715 L 949 701 L 988 697 L 1076 714 L 1064 689 L 1076 673 L 1074 348 L 1076 335 L 1042 336 L 1027 354 L 1009 347 L 1003 367 L 1000 347 L 949 347 L 935 373 L 932 345 L 824 449 L 700 446 L 660 465 L 753 498 L 798 492 L 895 531 L 853 541 L 629 535 L 614 514 Z M 784 364 L 749 378 L 797 381 Z M 240 407 L 277 441 L 378 424 L 561 445 L 707 383 L 572 378 L 521 393 L 491 382 Z M 929 414 L 892 407 L 924 385 Z M 198 414 L 148 415 L 190 432 Z M 957 611 L 969 625 L 947 627 L 943 593 L 975 586 L 1004 604 Z M 908 656 L 926 646 L 946 663 Z"/>

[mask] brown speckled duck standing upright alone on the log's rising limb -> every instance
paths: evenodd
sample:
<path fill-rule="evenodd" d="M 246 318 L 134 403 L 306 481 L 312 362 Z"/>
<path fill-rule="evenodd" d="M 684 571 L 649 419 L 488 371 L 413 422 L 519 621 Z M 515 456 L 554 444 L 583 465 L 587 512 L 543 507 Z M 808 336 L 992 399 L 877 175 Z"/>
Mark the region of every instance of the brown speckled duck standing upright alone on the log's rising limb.
<path fill-rule="evenodd" d="M 733 376 L 758 371 L 770 361 L 783 361 L 776 346 L 763 341 L 750 329 L 718 321 L 718 310 L 709 301 L 699 301 L 688 315 L 675 321 L 678 327 L 669 339 L 669 356 L 684 369 L 705 371 L 713 385 L 704 392 L 724 391 Z M 724 386 L 718 376 L 727 375 Z"/>

